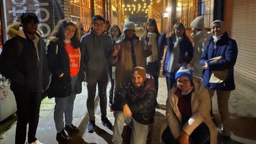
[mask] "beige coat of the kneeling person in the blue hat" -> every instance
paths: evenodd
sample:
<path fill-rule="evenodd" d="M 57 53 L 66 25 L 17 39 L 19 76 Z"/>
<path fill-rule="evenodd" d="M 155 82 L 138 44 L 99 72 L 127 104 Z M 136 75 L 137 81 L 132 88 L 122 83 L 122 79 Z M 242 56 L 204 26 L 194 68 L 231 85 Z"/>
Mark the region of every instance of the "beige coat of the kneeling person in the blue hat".
<path fill-rule="evenodd" d="M 210 143 L 216 144 L 217 130 L 210 116 L 210 96 L 208 90 L 203 87 L 201 81 L 201 78 L 193 78 L 195 91 L 193 91 L 191 98 L 192 116 L 182 127 L 182 130 L 184 130 L 186 134 L 190 135 L 197 126 L 204 122 L 210 130 Z M 171 96 L 167 98 L 167 119 L 160 130 L 160 136 L 162 136 L 162 132 L 164 132 L 167 126 L 169 126 L 173 136 L 177 139 L 181 133 L 180 122 L 182 121 L 182 115 L 177 107 L 178 96 L 174 93 L 175 89 L 177 88 L 173 87 Z"/>

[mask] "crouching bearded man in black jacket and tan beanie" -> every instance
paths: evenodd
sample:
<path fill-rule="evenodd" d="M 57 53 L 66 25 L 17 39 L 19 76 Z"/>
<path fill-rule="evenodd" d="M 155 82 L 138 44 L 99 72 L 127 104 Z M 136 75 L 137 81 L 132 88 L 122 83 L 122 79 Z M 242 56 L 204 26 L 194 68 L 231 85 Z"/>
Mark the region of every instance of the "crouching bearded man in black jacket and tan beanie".
<path fill-rule="evenodd" d="M 146 143 L 150 124 L 154 122 L 156 88 L 154 78 L 146 76 L 145 68 L 133 69 L 132 82 L 115 94 L 112 109 L 115 116 L 112 142 L 122 143 L 121 134 L 126 123 L 132 126 L 130 143 Z"/>

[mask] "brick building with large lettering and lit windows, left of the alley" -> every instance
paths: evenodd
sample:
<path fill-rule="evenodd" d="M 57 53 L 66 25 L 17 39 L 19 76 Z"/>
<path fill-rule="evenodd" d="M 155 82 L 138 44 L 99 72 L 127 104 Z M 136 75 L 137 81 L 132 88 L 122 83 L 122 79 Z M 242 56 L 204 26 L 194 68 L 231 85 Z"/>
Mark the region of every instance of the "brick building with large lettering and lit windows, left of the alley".
<path fill-rule="evenodd" d="M 108 6 L 111 0 L 2 0 L 0 3 L 0 48 L 8 36 L 5 34 L 8 25 L 20 22 L 23 12 L 35 12 L 40 18 L 40 29 L 44 32 L 43 38 L 50 35 L 59 20 L 68 18 L 76 24 L 83 24 L 85 30 L 91 27 L 91 16 L 95 14 L 104 18 L 110 16 Z"/>

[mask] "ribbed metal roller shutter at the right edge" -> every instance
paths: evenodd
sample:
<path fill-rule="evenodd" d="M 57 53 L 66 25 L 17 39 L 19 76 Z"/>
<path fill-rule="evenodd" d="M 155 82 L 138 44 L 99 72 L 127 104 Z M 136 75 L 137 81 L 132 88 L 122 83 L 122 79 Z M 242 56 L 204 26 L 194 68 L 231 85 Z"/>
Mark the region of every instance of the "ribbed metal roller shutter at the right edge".
<path fill-rule="evenodd" d="M 236 81 L 256 88 L 256 1 L 232 0 L 225 5 L 230 37 L 238 43 Z M 231 8 L 231 9 L 230 9 Z M 255 90 L 255 89 L 254 89 Z"/>

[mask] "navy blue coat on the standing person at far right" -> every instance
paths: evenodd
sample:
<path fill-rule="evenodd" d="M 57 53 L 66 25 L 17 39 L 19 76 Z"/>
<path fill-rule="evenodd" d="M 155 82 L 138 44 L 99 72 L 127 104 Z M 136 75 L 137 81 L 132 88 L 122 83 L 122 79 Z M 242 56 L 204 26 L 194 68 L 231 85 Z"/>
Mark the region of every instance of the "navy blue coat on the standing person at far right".
<path fill-rule="evenodd" d="M 218 56 L 222 56 L 223 60 L 217 61 L 216 63 L 209 63 L 209 59 Z M 200 58 L 202 66 L 205 65 L 205 62 L 208 63 L 208 70 L 203 70 L 203 86 L 208 89 L 225 91 L 236 89 L 233 78 L 233 67 L 235 66 L 237 57 L 238 45 L 235 40 L 229 38 L 227 33 L 224 33 L 216 44 L 214 44 L 214 39 L 211 37 Z M 209 83 L 212 71 L 218 70 L 229 70 L 227 79 L 223 83 Z"/>

